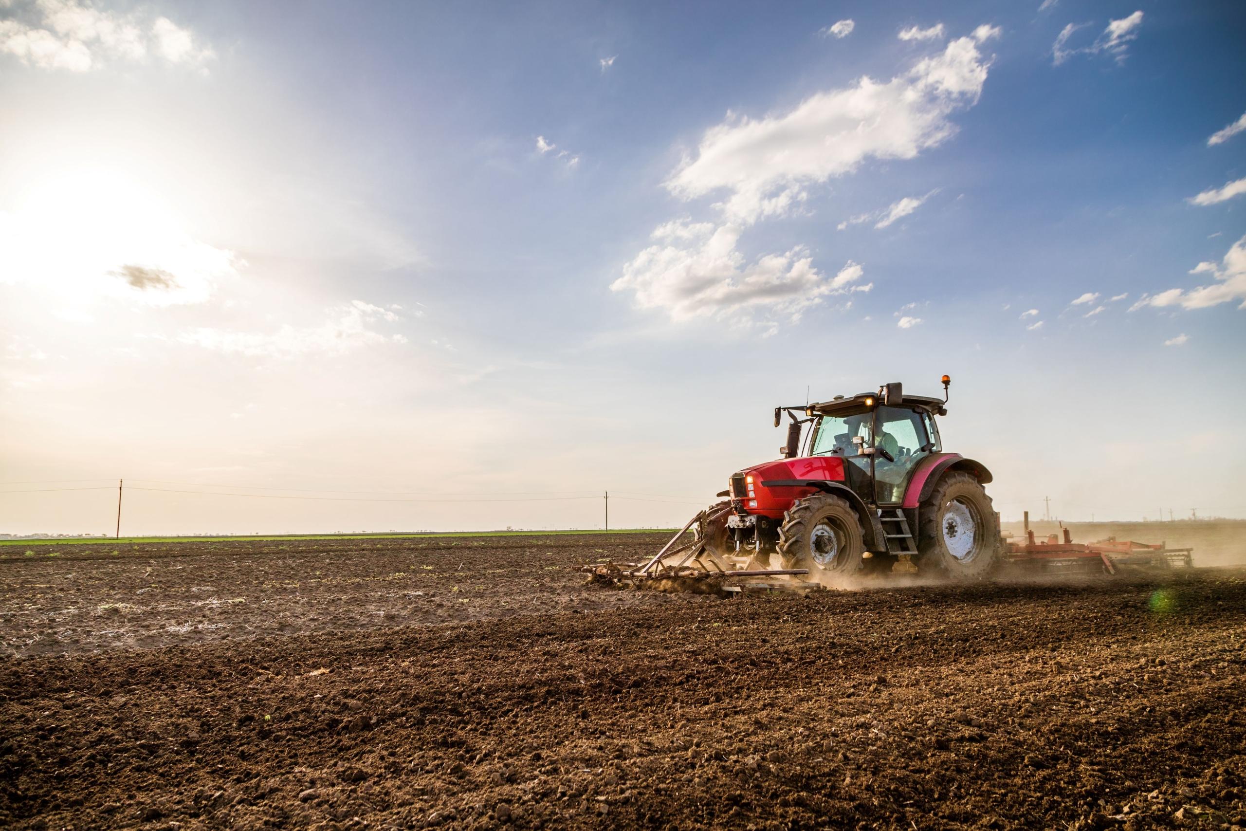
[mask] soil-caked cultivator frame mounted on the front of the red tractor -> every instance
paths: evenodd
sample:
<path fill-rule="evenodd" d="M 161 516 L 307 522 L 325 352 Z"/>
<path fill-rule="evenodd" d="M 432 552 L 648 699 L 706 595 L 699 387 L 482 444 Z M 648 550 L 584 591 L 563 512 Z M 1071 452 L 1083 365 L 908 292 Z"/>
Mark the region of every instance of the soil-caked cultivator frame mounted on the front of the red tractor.
<path fill-rule="evenodd" d="M 694 592 L 699 594 L 733 594 L 740 592 L 816 591 L 821 586 L 799 578 L 807 568 L 748 568 L 724 557 L 705 544 L 700 534 L 683 542 L 688 532 L 701 528 L 728 513 L 729 507 L 701 511 L 680 528 L 657 554 L 635 563 L 594 563 L 583 566 L 591 582 L 616 588 L 647 588 L 659 592 Z"/>

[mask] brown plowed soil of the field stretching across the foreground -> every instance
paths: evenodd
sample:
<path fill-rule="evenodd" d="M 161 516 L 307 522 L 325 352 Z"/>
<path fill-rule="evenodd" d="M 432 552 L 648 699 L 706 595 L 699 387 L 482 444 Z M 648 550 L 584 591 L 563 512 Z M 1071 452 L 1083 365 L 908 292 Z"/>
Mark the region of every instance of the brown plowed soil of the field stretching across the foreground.
<path fill-rule="evenodd" d="M 734 599 L 655 538 L 0 562 L 0 826 L 1246 826 L 1246 577 Z"/>

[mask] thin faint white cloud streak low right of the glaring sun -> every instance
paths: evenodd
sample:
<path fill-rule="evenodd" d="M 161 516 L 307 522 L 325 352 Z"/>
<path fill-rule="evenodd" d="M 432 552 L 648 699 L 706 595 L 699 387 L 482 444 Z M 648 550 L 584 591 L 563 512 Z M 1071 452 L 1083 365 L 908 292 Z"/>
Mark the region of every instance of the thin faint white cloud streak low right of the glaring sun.
<path fill-rule="evenodd" d="M 400 334 L 384 335 L 373 328 L 378 321 L 400 320 L 391 310 L 351 300 L 331 310 L 334 316 L 319 326 L 283 325 L 274 333 L 199 328 L 183 331 L 178 341 L 213 351 L 247 358 L 293 359 L 300 355 L 344 355 L 363 346 L 406 343 Z"/>

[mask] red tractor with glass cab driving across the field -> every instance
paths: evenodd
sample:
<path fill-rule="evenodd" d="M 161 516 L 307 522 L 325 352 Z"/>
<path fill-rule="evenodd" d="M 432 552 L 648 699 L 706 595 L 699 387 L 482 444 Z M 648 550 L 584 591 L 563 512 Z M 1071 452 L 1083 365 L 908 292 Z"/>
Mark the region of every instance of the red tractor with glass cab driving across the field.
<path fill-rule="evenodd" d="M 830 582 L 888 572 L 900 557 L 920 572 L 986 576 L 1001 552 L 999 516 L 982 487 L 991 472 L 943 452 L 934 417 L 947 414 L 951 379 L 942 380 L 942 399 L 886 384 L 775 407 L 776 427 L 784 412 L 790 419 L 782 458 L 731 475 L 719 493 L 729 498 L 690 523 L 699 547 Z"/>

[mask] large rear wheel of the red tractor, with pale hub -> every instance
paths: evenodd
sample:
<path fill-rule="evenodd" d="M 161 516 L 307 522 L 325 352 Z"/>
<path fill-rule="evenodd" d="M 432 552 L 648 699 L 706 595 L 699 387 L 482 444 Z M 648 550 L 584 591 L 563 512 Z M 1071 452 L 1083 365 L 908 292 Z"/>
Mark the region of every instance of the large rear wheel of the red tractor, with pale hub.
<path fill-rule="evenodd" d="M 921 572 L 953 579 L 987 576 L 999 553 L 999 528 L 977 478 L 956 471 L 939 480 L 921 507 L 917 549 Z"/>

